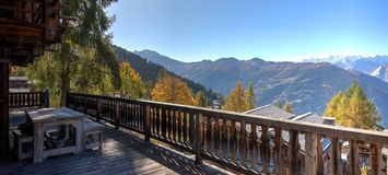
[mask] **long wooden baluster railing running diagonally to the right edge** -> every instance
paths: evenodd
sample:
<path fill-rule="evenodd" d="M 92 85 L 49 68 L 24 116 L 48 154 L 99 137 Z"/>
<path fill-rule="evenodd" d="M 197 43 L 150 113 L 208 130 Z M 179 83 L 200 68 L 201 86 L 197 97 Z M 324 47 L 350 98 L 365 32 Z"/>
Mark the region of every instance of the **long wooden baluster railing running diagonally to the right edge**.
<path fill-rule="evenodd" d="M 386 132 L 79 93 L 68 94 L 67 106 L 143 133 L 146 142 L 153 138 L 191 152 L 197 163 L 205 159 L 246 174 L 360 174 L 365 150 L 368 174 L 387 171 Z M 328 162 L 322 138 L 330 140 Z"/>

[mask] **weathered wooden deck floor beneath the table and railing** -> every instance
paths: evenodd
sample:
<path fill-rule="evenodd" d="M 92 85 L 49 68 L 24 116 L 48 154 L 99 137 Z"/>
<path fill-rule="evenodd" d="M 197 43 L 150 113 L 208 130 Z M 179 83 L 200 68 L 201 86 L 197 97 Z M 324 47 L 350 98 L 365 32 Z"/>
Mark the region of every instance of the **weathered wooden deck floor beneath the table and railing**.
<path fill-rule="evenodd" d="M 0 174 L 233 174 L 217 166 L 196 165 L 193 155 L 181 154 L 134 133 L 104 129 L 103 151 L 48 158 L 43 163 L 0 162 Z"/>

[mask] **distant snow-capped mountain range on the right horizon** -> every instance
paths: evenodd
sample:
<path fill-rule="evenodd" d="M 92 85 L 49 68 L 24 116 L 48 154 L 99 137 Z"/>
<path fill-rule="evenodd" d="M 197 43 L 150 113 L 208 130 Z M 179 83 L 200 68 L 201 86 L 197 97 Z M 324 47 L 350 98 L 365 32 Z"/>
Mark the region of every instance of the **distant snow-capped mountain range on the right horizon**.
<path fill-rule="evenodd" d="M 366 74 L 371 74 L 383 81 L 388 82 L 387 67 L 388 67 L 388 56 L 375 56 L 375 57 L 363 57 L 363 56 L 331 56 L 329 58 L 322 59 L 305 59 L 305 62 L 330 62 L 342 69 L 356 70 Z"/>

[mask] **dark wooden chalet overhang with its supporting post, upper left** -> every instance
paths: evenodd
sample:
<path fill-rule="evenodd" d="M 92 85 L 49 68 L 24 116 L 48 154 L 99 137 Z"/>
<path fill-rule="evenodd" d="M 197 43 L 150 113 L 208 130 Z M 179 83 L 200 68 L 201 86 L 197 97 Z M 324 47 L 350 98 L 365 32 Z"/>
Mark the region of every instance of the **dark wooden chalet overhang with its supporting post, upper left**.
<path fill-rule="evenodd" d="M 9 73 L 60 42 L 59 0 L 0 0 L 0 150 L 9 144 Z"/>

